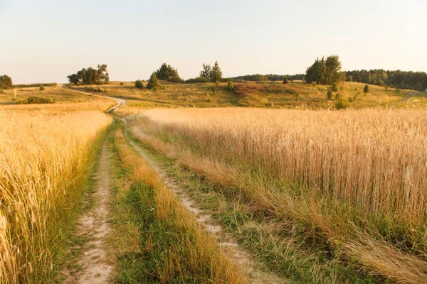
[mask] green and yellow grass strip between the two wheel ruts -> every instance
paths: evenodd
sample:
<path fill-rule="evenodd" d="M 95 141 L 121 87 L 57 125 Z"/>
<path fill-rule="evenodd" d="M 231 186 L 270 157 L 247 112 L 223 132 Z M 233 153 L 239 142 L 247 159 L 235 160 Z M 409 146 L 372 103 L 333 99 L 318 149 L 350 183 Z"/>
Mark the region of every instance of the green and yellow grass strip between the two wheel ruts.
<path fill-rule="evenodd" d="M 130 170 L 130 184 L 124 187 L 125 192 L 123 187 L 117 192 L 118 203 L 132 203 L 127 219 L 137 215 L 138 223 L 133 230 L 138 231 L 133 234 L 134 241 L 127 241 L 131 244 L 127 253 L 118 258 L 127 260 L 137 252 L 135 265 L 142 267 L 134 268 L 137 273 L 133 275 L 120 268 L 117 274 L 144 283 L 247 283 L 241 268 L 221 253 L 215 239 L 201 229 L 156 171 L 130 148 L 122 131 L 116 131 L 115 145 L 123 167 Z M 126 226 L 132 225 L 130 220 Z"/>

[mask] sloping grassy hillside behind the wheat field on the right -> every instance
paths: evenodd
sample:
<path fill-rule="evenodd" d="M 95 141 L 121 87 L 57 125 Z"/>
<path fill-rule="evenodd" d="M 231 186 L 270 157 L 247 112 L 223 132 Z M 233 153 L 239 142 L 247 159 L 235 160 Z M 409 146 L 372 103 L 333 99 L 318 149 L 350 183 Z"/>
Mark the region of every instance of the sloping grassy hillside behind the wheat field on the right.
<path fill-rule="evenodd" d="M 144 86 L 147 82 L 144 82 Z M 152 91 L 137 89 L 133 82 L 111 82 L 102 86 L 102 92 L 108 96 L 122 97 L 132 100 L 130 107 L 268 107 L 268 108 L 309 108 L 327 109 L 334 107 L 337 100 L 327 99 L 327 86 L 305 84 L 303 82 L 244 82 L 234 84 L 235 89 L 229 91 L 226 83 L 221 83 L 216 94 L 212 91 L 213 83 L 201 84 L 170 84 L 162 83 L 164 89 Z M 350 107 L 377 107 L 395 105 L 427 106 L 427 93 L 410 90 L 385 89 L 369 85 L 370 92 L 363 92 L 365 84 L 344 82 L 338 92 L 349 99 Z M 88 87 L 73 89 L 88 91 Z M 94 92 L 95 94 L 95 92 Z M 408 99 L 405 99 L 408 96 Z M 354 99 L 355 98 L 355 99 Z M 416 101 L 416 102 L 414 102 Z M 399 102 L 399 104 L 398 104 Z"/>

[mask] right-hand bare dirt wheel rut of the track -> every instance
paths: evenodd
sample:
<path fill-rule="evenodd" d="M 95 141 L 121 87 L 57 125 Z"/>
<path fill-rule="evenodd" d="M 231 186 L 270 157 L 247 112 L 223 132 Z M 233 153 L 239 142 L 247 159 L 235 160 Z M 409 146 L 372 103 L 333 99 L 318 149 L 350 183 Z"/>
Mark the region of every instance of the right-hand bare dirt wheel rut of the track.
<path fill-rule="evenodd" d="M 134 129 L 132 129 L 132 133 L 133 130 Z M 149 163 L 149 165 L 151 165 L 151 167 L 156 170 L 160 178 L 162 178 L 164 184 L 175 193 L 176 197 L 179 198 L 184 207 L 196 215 L 197 222 L 199 222 L 199 224 L 201 224 L 204 229 L 206 229 L 206 231 L 209 231 L 217 239 L 221 249 L 230 253 L 230 255 L 233 256 L 233 261 L 243 266 L 243 271 L 248 271 L 250 275 L 250 283 L 290 283 L 290 281 L 280 278 L 278 275 L 261 269 L 260 263 L 257 263 L 244 248 L 239 246 L 231 234 L 227 234 L 221 226 L 218 226 L 218 224 L 214 222 L 214 219 L 211 217 L 209 212 L 206 212 L 206 210 L 197 207 L 196 202 L 194 202 L 194 200 L 189 197 L 185 188 L 181 186 L 175 178 L 167 175 L 166 170 L 164 170 L 164 168 L 162 168 L 156 160 L 150 158 L 150 156 L 147 155 L 147 152 L 143 148 L 137 146 L 137 144 L 133 141 L 129 141 L 129 143 L 133 148 L 135 148 L 139 155 L 141 155 L 142 158 L 144 158 L 147 163 Z"/>

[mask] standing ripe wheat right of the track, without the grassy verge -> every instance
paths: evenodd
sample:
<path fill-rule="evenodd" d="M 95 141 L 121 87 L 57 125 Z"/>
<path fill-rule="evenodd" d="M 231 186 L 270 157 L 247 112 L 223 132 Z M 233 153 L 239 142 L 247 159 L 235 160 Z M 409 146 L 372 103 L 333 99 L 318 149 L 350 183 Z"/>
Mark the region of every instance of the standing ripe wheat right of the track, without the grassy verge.
<path fill-rule="evenodd" d="M 259 165 L 418 229 L 427 217 L 426 114 L 157 109 L 144 115 L 201 153 Z"/>

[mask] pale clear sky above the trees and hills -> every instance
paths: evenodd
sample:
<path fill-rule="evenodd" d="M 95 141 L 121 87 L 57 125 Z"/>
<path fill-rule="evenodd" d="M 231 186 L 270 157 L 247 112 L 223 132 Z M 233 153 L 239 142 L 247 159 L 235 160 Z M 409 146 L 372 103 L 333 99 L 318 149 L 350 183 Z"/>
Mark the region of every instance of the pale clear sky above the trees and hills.
<path fill-rule="evenodd" d="M 105 63 L 131 81 L 167 62 L 189 79 L 216 60 L 225 77 L 294 74 L 331 54 L 426 72 L 426 31 L 427 0 L 0 0 L 0 75 L 66 82 Z"/>

